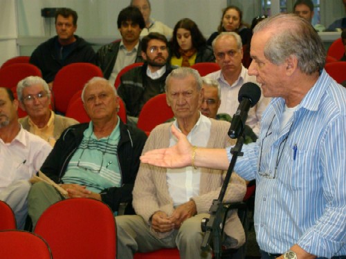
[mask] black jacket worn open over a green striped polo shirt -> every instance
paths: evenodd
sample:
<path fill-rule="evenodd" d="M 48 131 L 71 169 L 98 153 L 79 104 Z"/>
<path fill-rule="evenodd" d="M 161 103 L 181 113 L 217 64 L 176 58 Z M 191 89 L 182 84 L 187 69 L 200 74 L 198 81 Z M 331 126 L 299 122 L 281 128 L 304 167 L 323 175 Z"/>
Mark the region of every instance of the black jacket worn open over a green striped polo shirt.
<path fill-rule="evenodd" d="M 63 183 L 62 177 L 75 150 L 83 139 L 83 133 L 89 124 L 76 124 L 67 128 L 57 140 L 53 150 L 44 161 L 41 171 L 56 183 Z M 118 144 L 118 162 L 122 176 L 121 187 L 111 187 L 101 191 L 102 202 L 118 211 L 120 202 L 131 202 L 132 189 L 140 164 L 140 154 L 147 135 L 138 128 L 131 128 L 120 120 L 120 140 Z"/>

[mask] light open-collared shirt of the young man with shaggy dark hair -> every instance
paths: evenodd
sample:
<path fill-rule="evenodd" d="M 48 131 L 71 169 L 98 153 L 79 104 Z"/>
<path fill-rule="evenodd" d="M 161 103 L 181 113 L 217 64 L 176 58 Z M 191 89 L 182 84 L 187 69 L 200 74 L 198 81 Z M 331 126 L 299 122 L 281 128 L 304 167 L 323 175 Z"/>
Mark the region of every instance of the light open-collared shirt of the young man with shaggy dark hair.
<path fill-rule="evenodd" d="M 121 40 L 118 55 L 116 56 L 116 64 L 114 64 L 113 71 L 111 72 L 111 75 L 108 79 L 112 86 L 114 85 L 114 82 L 116 81 L 116 77 L 120 70 L 122 70 L 122 68 L 125 68 L 125 66 L 133 64 L 136 61 L 139 42 L 140 41 L 138 41 L 138 44 L 136 44 L 136 46 L 134 46 L 132 50 L 128 51 Z"/>

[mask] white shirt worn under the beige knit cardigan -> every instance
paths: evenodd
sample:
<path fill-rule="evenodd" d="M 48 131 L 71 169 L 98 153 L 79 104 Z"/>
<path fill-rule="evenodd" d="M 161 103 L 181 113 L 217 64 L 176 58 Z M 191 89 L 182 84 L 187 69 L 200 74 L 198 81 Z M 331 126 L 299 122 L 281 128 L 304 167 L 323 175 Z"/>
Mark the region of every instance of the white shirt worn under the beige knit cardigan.
<path fill-rule="evenodd" d="M 206 147 L 210 137 L 211 125 L 212 123 L 208 117 L 200 115 L 196 125 L 187 136 L 188 141 L 192 145 Z M 179 129 L 176 121 L 174 121 L 174 126 Z M 170 146 L 175 144 L 176 137 L 171 135 Z M 180 169 L 167 169 L 168 191 L 173 199 L 174 207 L 188 202 L 193 196 L 199 195 L 200 179 L 200 168 L 194 169 L 193 166 L 185 166 Z"/>

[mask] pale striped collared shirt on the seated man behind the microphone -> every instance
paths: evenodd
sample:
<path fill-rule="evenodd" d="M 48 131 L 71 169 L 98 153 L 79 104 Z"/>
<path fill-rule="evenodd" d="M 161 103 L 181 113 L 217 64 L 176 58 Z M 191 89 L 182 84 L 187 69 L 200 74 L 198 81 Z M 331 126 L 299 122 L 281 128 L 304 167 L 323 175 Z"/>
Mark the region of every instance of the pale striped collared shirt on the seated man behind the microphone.
<path fill-rule="evenodd" d="M 210 73 L 206 77 L 217 80 L 221 87 L 221 105 L 217 113 L 228 113 L 232 117 L 239 106 L 238 93 L 242 85 L 247 82 L 252 82 L 260 86 L 256 81 L 256 77 L 248 75 L 248 70 L 244 66 L 242 66 L 242 71 L 232 86 L 228 84 L 221 70 Z M 246 125 L 250 126 L 257 136 L 260 134 L 262 113 L 270 102 L 271 98 L 266 98 L 261 94 L 260 101 L 248 112 Z"/>

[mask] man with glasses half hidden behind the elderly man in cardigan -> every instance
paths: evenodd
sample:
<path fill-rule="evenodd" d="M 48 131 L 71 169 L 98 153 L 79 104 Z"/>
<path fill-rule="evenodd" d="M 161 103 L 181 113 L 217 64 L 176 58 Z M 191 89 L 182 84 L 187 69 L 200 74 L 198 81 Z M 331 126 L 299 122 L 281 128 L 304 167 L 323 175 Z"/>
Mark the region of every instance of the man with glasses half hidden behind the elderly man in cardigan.
<path fill-rule="evenodd" d="M 227 113 L 219 113 L 219 107 L 221 105 L 221 89 L 219 83 L 216 80 L 210 79 L 208 77 L 203 77 L 203 89 L 204 89 L 204 99 L 201 105 L 201 113 L 209 118 L 213 119 L 221 119 L 226 122 L 232 122 L 232 117 Z M 253 130 L 245 125 L 244 127 L 245 133 L 245 144 L 255 142 L 257 140 L 257 136 L 253 133 Z"/>

